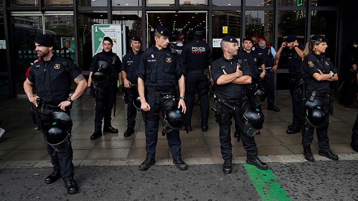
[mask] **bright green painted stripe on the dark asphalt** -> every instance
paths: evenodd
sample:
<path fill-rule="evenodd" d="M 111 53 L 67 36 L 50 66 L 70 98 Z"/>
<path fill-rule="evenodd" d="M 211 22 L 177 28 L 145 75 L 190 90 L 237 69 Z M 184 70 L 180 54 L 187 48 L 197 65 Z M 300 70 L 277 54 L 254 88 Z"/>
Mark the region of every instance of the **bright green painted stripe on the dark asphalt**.
<path fill-rule="evenodd" d="M 262 201 L 291 201 L 290 196 L 270 169 L 260 170 L 247 163 L 244 163 L 243 166 Z"/>

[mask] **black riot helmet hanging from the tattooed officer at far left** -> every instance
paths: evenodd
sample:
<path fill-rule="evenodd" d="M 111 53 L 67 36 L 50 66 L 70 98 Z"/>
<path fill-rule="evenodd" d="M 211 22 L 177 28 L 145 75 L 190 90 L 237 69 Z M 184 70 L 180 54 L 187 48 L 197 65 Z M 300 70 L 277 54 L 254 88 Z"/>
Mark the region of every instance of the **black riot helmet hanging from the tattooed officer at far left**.
<path fill-rule="evenodd" d="M 72 120 L 64 112 L 53 112 L 44 121 L 45 140 L 57 152 L 64 151 L 70 146 Z"/>

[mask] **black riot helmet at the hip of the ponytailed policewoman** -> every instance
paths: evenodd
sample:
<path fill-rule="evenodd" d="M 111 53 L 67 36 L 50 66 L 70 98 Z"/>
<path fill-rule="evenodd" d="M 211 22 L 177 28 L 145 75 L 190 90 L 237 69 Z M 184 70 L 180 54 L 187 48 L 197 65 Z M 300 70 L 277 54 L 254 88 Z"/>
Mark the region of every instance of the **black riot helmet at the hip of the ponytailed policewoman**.
<path fill-rule="evenodd" d="M 320 128 L 326 122 L 327 114 L 322 106 L 313 106 L 306 110 L 306 121 L 315 128 Z"/>

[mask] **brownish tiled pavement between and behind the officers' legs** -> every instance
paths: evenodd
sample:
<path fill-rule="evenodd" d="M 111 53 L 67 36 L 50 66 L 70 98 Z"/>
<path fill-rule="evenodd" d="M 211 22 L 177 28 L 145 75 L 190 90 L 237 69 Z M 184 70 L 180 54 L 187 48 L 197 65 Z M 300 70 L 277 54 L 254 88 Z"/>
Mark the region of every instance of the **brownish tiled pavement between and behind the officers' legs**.
<path fill-rule="evenodd" d="M 210 99 L 212 99 L 210 97 Z M 286 134 L 287 125 L 292 121 L 291 97 L 287 94 L 277 95 L 277 106 L 281 112 L 265 110 L 265 122 L 261 135 L 255 136 L 258 154 L 264 162 L 300 162 L 302 155 L 301 134 Z M 1 100 L 0 120 L 6 122 L 6 133 L 0 138 L 0 167 L 46 167 L 51 166 L 46 151 L 43 135 L 34 131 L 28 112 L 30 103 L 25 98 Z M 211 106 L 214 103 L 211 100 Z M 135 134 L 124 138 L 126 130 L 126 106 L 123 99 L 118 100 L 116 117 L 112 125 L 119 129 L 119 134 L 105 133 L 102 138 L 91 141 L 94 129 L 94 100 L 86 95 L 80 97 L 72 108 L 73 120 L 72 147 L 75 165 L 138 165 L 145 158 L 145 133 L 141 113 L 138 112 Z M 358 110 L 347 109 L 334 104 L 333 116 L 330 116 L 328 136 L 331 150 L 338 153 L 340 160 L 358 160 L 358 154 L 350 148 L 350 135 Z M 222 163 L 218 130 L 214 113 L 210 112 L 209 131 L 201 132 L 200 110 L 195 107 L 192 119 L 193 132 L 181 131 L 182 156 L 188 164 Z M 245 161 L 245 151 L 241 142 L 236 142 L 232 133 L 234 163 Z M 165 136 L 161 136 L 159 127 L 156 164 L 172 164 L 171 154 Z M 319 156 L 317 138 L 314 137 L 312 151 L 316 160 L 328 160 Z"/>

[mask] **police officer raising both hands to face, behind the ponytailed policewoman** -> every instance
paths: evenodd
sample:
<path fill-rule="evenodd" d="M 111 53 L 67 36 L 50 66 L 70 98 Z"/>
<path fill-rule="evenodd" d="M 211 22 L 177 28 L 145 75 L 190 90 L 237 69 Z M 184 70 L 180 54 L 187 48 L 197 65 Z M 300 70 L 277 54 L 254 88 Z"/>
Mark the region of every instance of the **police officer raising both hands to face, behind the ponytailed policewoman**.
<path fill-rule="evenodd" d="M 301 58 L 303 56 L 304 46 L 297 42 L 297 36 L 289 35 L 286 41 L 282 43 L 280 49 L 275 56 L 279 60 L 279 66 L 288 66 L 290 94 L 292 98 L 292 125 L 287 127 L 287 134 L 296 134 L 301 132 L 302 127 L 302 111 L 300 100 L 295 96 L 299 80 L 302 78 Z"/>

